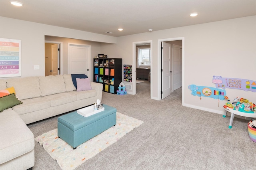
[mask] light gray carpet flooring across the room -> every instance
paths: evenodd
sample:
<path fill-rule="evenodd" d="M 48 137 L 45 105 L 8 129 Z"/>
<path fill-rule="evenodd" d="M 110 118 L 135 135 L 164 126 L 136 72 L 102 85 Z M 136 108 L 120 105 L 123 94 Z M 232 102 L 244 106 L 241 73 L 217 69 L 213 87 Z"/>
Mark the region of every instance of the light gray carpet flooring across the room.
<path fill-rule="evenodd" d="M 256 142 L 248 120 L 182 106 L 182 89 L 161 101 L 150 99 L 150 83 L 136 84 L 136 95 L 103 92 L 102 103 L 144 121 L 77 170 L 242 170 L 256 169 Z M 34 136 L 57 128 L 53 117 L 28 125 Z M 60 170 L 56 160 L 35 142 L 33 170 Z"/>

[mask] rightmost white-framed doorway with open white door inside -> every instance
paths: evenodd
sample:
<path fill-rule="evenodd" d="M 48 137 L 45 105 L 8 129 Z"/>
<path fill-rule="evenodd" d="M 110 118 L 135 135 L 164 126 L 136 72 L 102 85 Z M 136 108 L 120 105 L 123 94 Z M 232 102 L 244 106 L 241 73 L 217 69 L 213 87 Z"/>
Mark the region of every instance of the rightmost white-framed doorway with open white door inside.
<path fill-rule="evenodd" d="M 184 38 L 158 40 L 158 45 L 161 68 L 159 72 L 161 77 L 159 99 L 164 99 L 171 95 L 174 90 L 183 88 Z M 168 56 L 163 57 L 163 54 Z"/>

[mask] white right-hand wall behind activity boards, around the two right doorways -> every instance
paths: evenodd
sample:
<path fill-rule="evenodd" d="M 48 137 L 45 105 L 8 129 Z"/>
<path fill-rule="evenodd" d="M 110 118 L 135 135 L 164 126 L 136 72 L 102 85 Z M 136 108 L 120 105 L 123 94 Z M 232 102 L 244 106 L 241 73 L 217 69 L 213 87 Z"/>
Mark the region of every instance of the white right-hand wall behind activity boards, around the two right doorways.
<path fill-rule="evenodd" d="M 118 37 L 116 44 L 101 46 L 103 53 L 123 58 L 132 64 L 132 42 L 152 40 L 151 83 L 153 97 L 160 96 L 157 77 L 160 75 L 158 40 L 184 37 L 183 105 L 214 113 L 223 113 L 226 100 L 191 95 L 188 85 L 215 87 L 213 75 L 256 81 L 256 16 L 198 24 L 168 30 Z M 256 93 L 226 89 L 230 99 L 243 97 L 256 103 Z M 175 101 L 174 101 L 175 102 Z"/>

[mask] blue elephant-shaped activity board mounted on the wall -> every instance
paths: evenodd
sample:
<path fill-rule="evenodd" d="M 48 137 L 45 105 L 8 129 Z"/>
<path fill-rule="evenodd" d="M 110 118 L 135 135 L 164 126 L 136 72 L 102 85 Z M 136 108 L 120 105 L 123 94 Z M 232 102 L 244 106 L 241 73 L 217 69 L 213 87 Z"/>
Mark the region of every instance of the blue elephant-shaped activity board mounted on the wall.
<path fill-rule="evenodd" d="M 214 99 L 224 100 L 226 90 L 218 89 L 215 87 L 189 85 L 188 89 L 192 91 L 192 95 L 201 97 L 212 97 Z"/>

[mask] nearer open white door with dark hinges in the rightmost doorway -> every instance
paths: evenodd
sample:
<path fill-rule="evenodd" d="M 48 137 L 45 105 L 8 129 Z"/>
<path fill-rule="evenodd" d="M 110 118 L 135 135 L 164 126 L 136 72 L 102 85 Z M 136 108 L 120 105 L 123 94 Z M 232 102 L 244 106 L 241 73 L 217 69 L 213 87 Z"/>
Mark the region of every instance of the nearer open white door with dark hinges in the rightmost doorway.
<path fill-rule="evenodd" d="M 171 45 L 162 42 L 162 99 L 171 94 Z"/>

